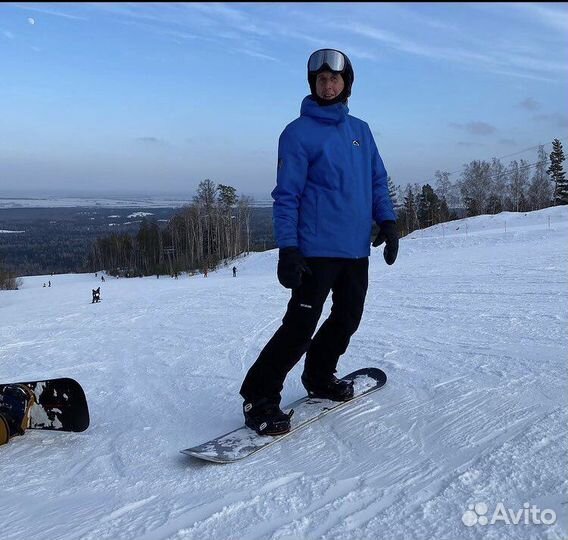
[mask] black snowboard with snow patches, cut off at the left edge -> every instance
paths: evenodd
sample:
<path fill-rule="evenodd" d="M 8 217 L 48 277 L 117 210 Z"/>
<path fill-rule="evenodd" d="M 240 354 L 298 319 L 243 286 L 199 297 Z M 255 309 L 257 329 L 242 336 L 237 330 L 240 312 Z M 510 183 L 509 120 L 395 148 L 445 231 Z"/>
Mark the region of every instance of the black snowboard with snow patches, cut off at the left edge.
<path fill-rule="evenodd" d="M 16 384 L 25 384 L 35 394 L 27 429 L 85 431 L 89 427 L 85 392 L 74 379 L 46 379 Z M 3 386 L 0 384 L 0 393 Z"/>

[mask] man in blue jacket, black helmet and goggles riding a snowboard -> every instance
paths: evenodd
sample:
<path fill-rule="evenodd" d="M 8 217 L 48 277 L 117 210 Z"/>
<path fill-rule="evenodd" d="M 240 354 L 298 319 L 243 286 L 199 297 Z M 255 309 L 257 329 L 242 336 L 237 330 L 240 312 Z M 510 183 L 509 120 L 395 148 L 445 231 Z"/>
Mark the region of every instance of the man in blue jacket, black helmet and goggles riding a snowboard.
<path fill-rule="evenodd" d="M 353 80 L 345 54 L 315 51 L 308 60 L 311 95 L 280 136 L 273 221 L 278 280 L 292 297 L 240 390 L 245 424 L 259 434 L 290 430 L 292 413 L 280 410 L 280 393 L 304 353 L 309 396 L 353 397 L 352 383 L 334 373 L 363 314 L 373 220 L 380 227 L 373 245 L 386 241 L 386 262 L 396 259 L 387 173 L 369 126 L 348 114 Z M 311 339 L 330 291 L 331 314 Z"/>

